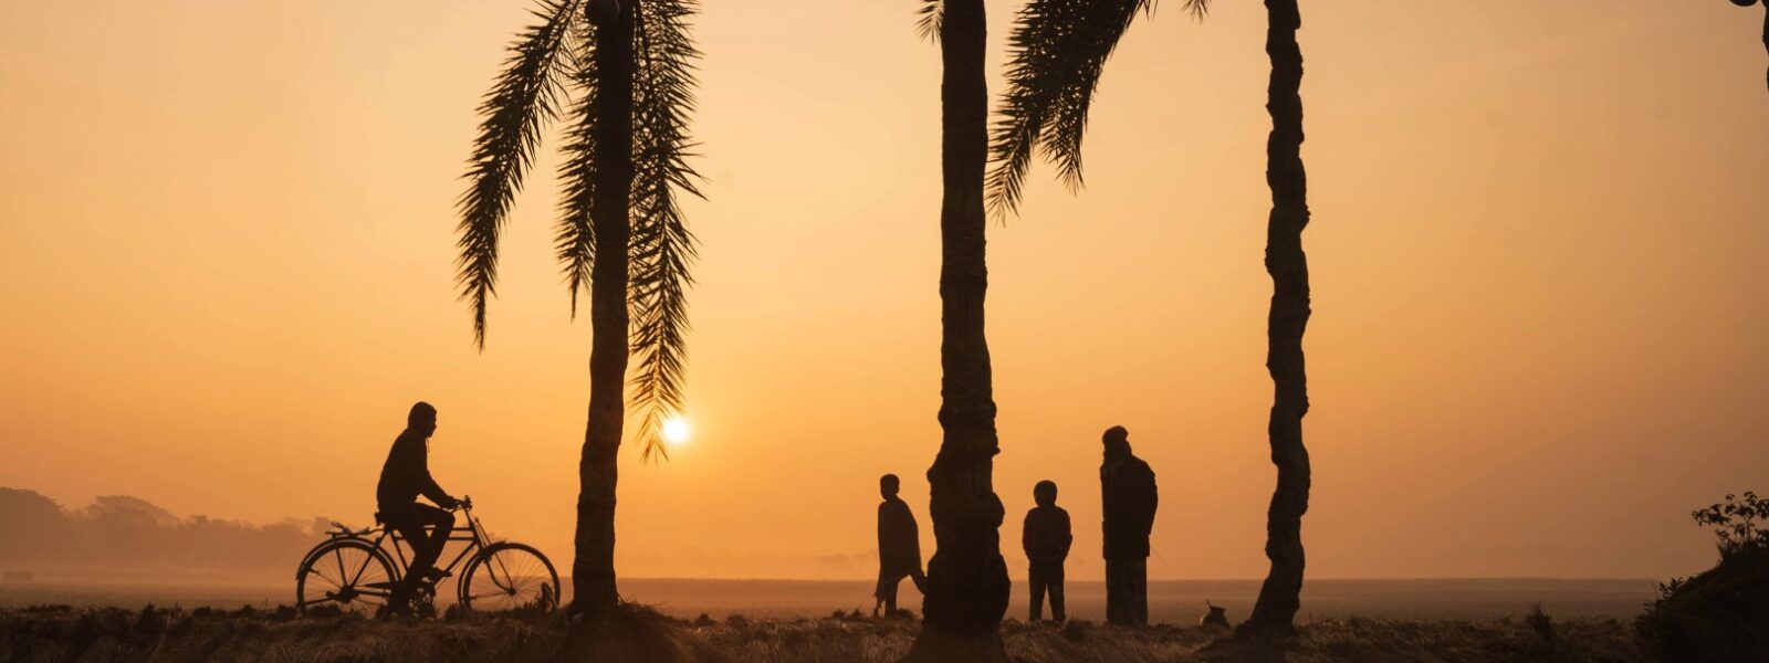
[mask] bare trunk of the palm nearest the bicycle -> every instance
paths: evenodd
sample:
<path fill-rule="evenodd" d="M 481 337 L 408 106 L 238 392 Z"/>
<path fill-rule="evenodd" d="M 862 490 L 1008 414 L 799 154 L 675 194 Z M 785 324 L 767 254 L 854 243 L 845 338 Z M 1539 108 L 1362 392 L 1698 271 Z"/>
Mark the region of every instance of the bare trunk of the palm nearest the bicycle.
<path fill-rule="evenodd" d="M 577 469 L 582 486 L 577 497 L 577 559 L 571 562 L 571 612 L 580 615 L 619 605 L 614 583 L 614 488 L 626 419 L 626 246 L 633 180 L 633 9 L 630 2 L 619 5 L 619 14 L 603 19 L 594 34 L 596 191 L 589 216 L 596 232 L 596 263 L 589 285 L 589 426 Z"/>

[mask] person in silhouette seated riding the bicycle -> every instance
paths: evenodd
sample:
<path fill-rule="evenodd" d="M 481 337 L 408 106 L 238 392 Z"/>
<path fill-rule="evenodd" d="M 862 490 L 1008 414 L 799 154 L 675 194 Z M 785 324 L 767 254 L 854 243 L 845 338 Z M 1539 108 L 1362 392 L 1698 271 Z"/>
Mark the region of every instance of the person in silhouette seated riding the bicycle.
<path fill-rule="evenodd" d="M 430 435 L 435 431 L 437 408 L 425 401 L 412 405 L 405 414 L 405 430 L 393 440 L 387 461 L 380 467 L 380 483 L 375 486 L 375 502 L 380 509 L 377 516 L 412 546 L 412 564 L 393 589 L 387 601 L 389 613 L 410 612 L 412 592 L 419 582 L 448 576 L 435 568 L 435 560 L 455 530 L 455 514 L 444 509 L 460 507 L 460 500 L 430 477 Z M 444 509 L 419 504 L 417 495 Z M 426 525 L 435 527 L 428 536 L 425 536 Z"/>

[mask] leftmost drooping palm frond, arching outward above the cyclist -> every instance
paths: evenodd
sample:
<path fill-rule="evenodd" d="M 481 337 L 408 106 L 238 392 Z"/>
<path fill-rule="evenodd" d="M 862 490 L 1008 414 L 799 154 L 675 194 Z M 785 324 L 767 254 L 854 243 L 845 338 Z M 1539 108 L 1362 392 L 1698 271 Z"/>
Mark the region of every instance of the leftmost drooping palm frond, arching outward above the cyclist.
<path fill-rule="evenodd" d="M 467 191 L 455 203 L 460 258 L 455 283 L 472 306 L 472 341 L 485 348 L 486 301 L 497 290 L 497 239 L 509 203 L 522 191 L 540 143 L 540 133 L 555 115 L 564 81 L 559 53 L 570 50 L 577 0 L 540 0 L 540 23 L 525 28 L 509 46 L 509 58 L 479 104 L 479 134 L 467 166 Z"/>

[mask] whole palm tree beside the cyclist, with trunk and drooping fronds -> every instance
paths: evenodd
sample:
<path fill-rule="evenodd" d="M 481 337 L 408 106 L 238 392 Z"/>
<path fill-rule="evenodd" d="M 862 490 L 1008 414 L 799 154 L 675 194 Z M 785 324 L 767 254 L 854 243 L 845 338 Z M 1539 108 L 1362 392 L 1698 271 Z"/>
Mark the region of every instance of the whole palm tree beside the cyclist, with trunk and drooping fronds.
<path fill-rule="evenodd" d="M 460 196 L 456 281 L 485 348 L 497 292 L 497 240 L 515 194 L 561 111 L 570 127 L 557 258 L 577 295 L 589 292 L 589 424 L 578 461 L 573 613 L 619 603 L 614 582 L 616 456 L 626 417 L 628 352 L 639 354 L 632 400 L 644 412 L 642 458 L 665 456 L 662 423 L 681 410 L 685 290 L 695 256 L 679 200 L 699 196 L 686 164 L 693 0 L 540 0 L 538 23 L 509 46 L 485 103 Z M 667 458 L 667 456 L 665 456 Z"/>

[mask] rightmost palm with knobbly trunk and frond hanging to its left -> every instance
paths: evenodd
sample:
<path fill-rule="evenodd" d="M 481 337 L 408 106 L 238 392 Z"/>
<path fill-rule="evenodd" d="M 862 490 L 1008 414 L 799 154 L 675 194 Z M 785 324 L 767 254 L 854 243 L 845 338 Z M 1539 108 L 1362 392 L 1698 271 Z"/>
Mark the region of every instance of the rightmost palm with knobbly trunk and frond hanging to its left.
<path fill-rule="evenodd" d="M 1185 0 L 1194 18 L 1203 18 L 1208 0 Z M 1302 170 L 1302 23 L 1297 0 L 1265 0 L 1268 16 L 1265 51 L 1272 60 L 1267 111 L 1272 134 L 1267 143 L 1267 184 L 1272 214 L 1267 221 L 1265 269 L 1272 276 L 1272 309 L 1267 320 L 1267 361 L 1275 398 L 1267 433 L 1277 490 L 1267 511 L 1265 555 L 1272 568 L 1260 589 L 1251 631 L 1290 629 L 1302 594 L 1302 514 L 1309 504 L 1309 454 L 1302 444 L 1307 414 L 1307 380 L 1302 362 L 1302 332 L 1309 320 L 1307 256 L 1302 228 L 1307 226 L 1307 182 Z M 1017 16 L 1008 64 L 1008 90 L 1001 120 L 991 138 L 994 170 L 989 173 L 989 205 L 998 217 L 1012 214 L 1021 200 L 1033 150 L 1056 164 L 1060 179 L 1079 189 L 1081 138 L 1100 71 L 1137 14 L 1150 14 L 1152 0 L 1031 0 Z"/>

